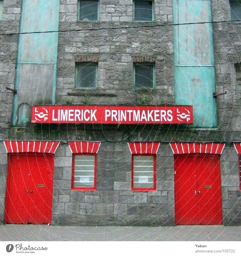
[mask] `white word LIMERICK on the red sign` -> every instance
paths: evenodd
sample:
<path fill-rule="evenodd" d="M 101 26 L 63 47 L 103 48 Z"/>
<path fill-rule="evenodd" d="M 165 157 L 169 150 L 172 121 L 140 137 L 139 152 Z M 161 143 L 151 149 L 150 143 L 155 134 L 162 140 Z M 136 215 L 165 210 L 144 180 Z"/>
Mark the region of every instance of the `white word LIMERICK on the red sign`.
<path fill-rule="evenodd" d="M 80 110 L 80 109 L 53 109 L 52 120 L 53 121 L 97 121 L 95 110 Z"/>

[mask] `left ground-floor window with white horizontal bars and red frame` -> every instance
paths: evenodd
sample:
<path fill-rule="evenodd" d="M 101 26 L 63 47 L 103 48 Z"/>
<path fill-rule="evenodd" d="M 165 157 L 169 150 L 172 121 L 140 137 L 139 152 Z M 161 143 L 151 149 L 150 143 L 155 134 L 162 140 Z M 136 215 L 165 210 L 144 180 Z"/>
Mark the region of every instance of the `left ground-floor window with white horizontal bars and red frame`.
<path fill-rule="evenodd" d="M 95 155 L 74 155 L 74 188 L 95 187 Z"/>

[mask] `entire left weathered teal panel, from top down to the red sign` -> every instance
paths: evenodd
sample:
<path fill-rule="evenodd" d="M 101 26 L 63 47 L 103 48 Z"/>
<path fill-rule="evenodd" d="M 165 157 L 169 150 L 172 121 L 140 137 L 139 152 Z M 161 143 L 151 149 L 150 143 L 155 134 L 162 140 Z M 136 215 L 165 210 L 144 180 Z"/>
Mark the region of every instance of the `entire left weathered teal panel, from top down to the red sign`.
<path fill-rule="evenodd" d="M 13 124 L 30 122 L 34 104 L 55 102 L 59 1 L 24 0 L 21 11 Z M 36 103 L 37 102 L 37 103 Z"/>

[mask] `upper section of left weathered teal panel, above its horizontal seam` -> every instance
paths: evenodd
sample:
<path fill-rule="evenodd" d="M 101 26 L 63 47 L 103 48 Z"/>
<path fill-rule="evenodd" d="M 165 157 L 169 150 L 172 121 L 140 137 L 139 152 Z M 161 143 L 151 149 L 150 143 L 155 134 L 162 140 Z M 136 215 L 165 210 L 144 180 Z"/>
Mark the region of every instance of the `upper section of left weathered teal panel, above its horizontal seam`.
<path fill-rule="evenodd" d="M 58 0 L 25 0 L 20 32 L 58 31 Z M 20 35 L 19 62 L 56 62 L 58 32 Z"/>

